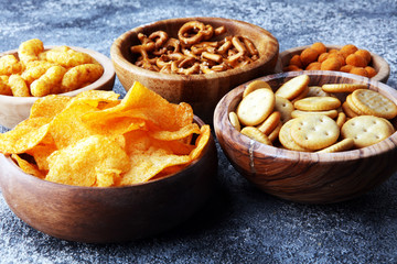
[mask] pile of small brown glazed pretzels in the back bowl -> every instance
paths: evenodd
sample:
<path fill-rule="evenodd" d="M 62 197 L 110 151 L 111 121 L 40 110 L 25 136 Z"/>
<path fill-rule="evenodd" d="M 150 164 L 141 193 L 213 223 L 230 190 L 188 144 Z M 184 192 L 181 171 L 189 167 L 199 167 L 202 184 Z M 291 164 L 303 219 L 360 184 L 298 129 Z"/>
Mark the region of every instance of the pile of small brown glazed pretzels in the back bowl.
<path fill-rule="evenodd" d="M 138 55 L 135 65 L 180 75 L 224 72 L 259 58 L 254 43 L 245 36 L 229 35 L 211 41 L 225 33 L 224 25 L 214 29 L 200 21 L 189 21 L 180 28 L 178 38 L 170 37 L 164 31 L 155 31 L 149 36 L 138 33 L 141 44 L 130 50 Z"/>

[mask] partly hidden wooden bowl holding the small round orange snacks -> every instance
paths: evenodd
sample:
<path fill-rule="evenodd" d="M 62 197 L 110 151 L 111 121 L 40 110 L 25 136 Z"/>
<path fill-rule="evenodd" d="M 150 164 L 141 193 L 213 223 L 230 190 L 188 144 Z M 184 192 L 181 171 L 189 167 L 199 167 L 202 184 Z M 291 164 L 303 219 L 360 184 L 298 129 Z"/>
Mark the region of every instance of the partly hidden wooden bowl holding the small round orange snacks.
<path fill-rule="evenodd" d="M 342 45 L 325 45 L 325 46 L 326 46 L 328 51 L 331 48 L 341 50 L 343 47 Z M 282 53 L 280 53 L 279 65 L 277 66 L 277 68 L 278 68 L 277 72 L 278 73 L 282 72 L 282 68 L 289 65 L 289 62 L 291 61 L 293 55 L 301 54 L 301 52 L 308 47 L 310 47 L 310 45 L 289 48 L 287 51 L 283 51 Z M 374 67 L 375 70 L 377 72 L 377 75 L 375 75 L 371 79 L 378 80 L 378 81 L 386 84 L 387 79 L 390 75 L 390 67 L 389 67 L 388 63 L 379 55 L 372 53 L 372 52 L 369 52 L 369 53 L 372 56 L 372 62 L 369 63 L 369 66 Z"/>

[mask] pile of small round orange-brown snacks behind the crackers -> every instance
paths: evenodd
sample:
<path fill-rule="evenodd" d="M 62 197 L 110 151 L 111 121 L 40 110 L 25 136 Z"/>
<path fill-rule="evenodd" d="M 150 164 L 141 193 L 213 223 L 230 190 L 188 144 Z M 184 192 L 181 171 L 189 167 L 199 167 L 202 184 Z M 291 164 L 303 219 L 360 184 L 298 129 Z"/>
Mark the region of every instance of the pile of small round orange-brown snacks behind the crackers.
<path fill-rule="evenodd" d="M 341 50 L 326 50 L 323 43 L 315 42 L 300 54 L 294 54 L 289 64 L 283 66 L 283 72 L 336 70 L 372 78 L 377 72 L 371 63 L 371 53 L 353 44 L 346 44 Z"/>

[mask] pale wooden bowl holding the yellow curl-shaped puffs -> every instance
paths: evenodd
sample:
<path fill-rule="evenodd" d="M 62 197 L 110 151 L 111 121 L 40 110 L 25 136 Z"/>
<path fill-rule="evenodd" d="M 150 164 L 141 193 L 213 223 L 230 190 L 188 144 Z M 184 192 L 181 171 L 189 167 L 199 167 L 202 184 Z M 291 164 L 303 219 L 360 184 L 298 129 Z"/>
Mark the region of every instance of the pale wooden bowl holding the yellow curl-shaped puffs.
<path fill-rule="evenodd" d="M 55 46 L 46 46 L 44 50 L 50 50 L 54 47 Z M 84 88 L 61 95 L 73 97 L 85 90 L 111 90 L 116 77 L 115 68 L 111 64 L 111 61 L 105 55 L 92 50 L 83 47 L 71 48 L 77 52 L 87 53 L 92 57 L 94 57 L 104 67 L 104 74 L 98 80 Z M 12 54 L 18 58 L 18 50 L 0 53 L 0 57 L 9 54 Z M 14 128 L 18 123 L 29 117 L 30 109 L 32 108 L 34 101 L 37 99 L 39 97 L 12 97 L 0 95 L 0 125 L 3 125 L 8 129 Z"/>

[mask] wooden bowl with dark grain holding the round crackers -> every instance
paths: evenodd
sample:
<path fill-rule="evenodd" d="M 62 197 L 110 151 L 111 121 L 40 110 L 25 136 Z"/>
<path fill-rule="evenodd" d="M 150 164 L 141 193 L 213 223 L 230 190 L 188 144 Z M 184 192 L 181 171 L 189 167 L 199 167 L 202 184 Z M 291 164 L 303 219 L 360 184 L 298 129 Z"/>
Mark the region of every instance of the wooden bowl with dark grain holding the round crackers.
<path fill-rule="evenodd" d="M 369 89 L 379 91 L 397 103 L 395 89 L 352 74 L 305 70 L 259 79 L 277 89 L 301 74 L 310 76 L 310 85 L 366 84 Z M 228 113 L 236 110 L 247 85 L 238 86 L 219 101 L 214 113 L 214 129 L 232 165 L 261 190 L 298 202 L 330 204 L 355 198 L 396 172 L 397 133 L 372 146 L 340 153 L 289 151 L 243 135 L 230 124 Z"/>

